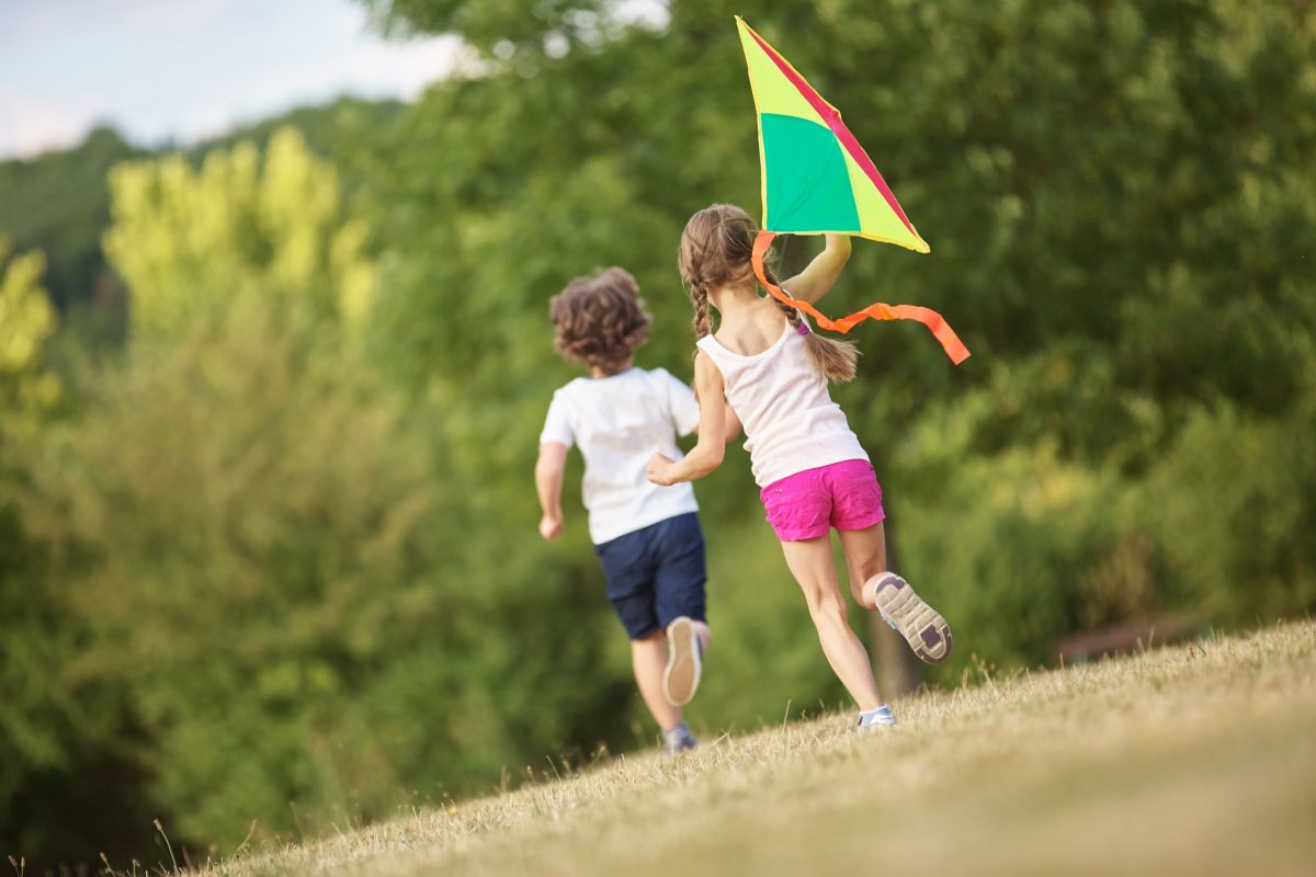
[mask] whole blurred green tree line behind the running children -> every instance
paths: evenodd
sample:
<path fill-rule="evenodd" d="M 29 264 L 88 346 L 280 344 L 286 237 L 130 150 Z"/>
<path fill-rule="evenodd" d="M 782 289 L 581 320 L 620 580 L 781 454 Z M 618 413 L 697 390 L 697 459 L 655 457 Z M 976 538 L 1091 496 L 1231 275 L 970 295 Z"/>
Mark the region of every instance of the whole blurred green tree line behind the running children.
<path fill-rule="evenodd" d="M 546 302 L 626 267 L 641 364 L 688 377 L 680 229 L 758 208 L 737 9 L 368 5 L 478 58 L 413 105 L 0 164 L 7 852 L 147 857 L 161 818 L 222 856 L 650 743 L 583 513 L 534 531 Z M 837 393 L 955 625 L 928 682 L 1311 611 L 1316 9 L 763 5 L 933 247 L 861 243 L 830 310 L 925 304 L 975 354 L 866 326 Z M 709 728 L 844 698 L 747 469 L 697 488 Z"/>

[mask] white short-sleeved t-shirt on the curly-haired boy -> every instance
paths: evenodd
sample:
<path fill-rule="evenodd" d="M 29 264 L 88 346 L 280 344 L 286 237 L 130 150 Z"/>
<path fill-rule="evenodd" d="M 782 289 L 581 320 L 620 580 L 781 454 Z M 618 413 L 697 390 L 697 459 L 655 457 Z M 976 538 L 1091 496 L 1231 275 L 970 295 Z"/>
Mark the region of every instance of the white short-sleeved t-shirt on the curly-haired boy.
<path fill-rule="evenodd" d="M 699 404 L 690 387 L 663 368 L 628 368 L 608 377 L 578 377 L 555 392 L 540 444 L 580 446 L 590 539 L 603 544 L 699 510 L 690 484 L 665 488 L 646 473 L 655 451 L 679 460 L 676 435 L 690 435 L 696 426 Z"/>

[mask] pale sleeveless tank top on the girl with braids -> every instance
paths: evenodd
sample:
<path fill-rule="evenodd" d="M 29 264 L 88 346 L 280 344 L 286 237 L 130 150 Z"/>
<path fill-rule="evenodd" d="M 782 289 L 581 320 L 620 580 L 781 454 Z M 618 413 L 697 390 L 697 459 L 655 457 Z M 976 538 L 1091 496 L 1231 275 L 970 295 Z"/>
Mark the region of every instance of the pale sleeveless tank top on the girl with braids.
<path fill-rule="evenodd" d="M 754 356 L 732 352 L 712 335 L 696 343 L 722 373 L 761 488 L 805 469 L 869 459 L 828 394 L 826 379 L 813 368 L 804 335 L 790 323 L 776 343 Z"/>

